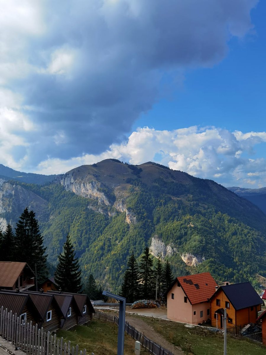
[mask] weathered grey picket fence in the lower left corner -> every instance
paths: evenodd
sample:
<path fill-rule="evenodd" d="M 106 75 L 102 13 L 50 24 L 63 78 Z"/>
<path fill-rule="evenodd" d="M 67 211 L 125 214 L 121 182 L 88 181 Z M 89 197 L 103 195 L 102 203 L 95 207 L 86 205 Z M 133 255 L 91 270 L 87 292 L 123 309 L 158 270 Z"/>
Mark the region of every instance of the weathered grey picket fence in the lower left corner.
<path fill-rule="evenodd" d="M 78 345 L 72 346 L 70 342 L 64 343 L 63 338 L 57 339 L 56 334 L 51 335 L 38 329 L 38 325 L 23 321 L 17 314 L 0 308 L 0 337 L 11 342 L 16 349 L 32 355 L 86 355 L 86 349 L 79 350 Z"/>

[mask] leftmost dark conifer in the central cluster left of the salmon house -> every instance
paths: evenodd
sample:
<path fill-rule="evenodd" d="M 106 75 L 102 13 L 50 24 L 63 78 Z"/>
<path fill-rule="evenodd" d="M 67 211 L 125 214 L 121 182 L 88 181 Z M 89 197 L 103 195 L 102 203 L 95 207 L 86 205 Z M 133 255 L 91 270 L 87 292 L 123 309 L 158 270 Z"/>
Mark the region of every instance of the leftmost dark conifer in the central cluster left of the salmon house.
<path fill-rule="evenodd" d="M 139 272 L 134 254 L 128 259 L 121 287 L 121 296 L 126 297 L 127 302 L 130 303 L 139 298 Z"/>

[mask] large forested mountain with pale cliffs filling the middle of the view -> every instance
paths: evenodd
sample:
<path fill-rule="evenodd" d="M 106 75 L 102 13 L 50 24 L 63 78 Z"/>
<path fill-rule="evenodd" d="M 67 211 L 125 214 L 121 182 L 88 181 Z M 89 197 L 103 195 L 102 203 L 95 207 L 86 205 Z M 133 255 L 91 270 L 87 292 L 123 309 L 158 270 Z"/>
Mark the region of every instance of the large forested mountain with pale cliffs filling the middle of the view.
<path fill-rule="evenodd" d="M 218 280 L 256 284 L 266 276 L 266 215 L 211 180 L 148 162 L 106 159 L 56 176 L 50 184 L 0 184 L 0 223 L 36 212 L 48 258 L 56 263 L 71 235 L 83 277 L 119 291 L 127 258 L 146 245 L 174 275 L 209 271 Z"/>

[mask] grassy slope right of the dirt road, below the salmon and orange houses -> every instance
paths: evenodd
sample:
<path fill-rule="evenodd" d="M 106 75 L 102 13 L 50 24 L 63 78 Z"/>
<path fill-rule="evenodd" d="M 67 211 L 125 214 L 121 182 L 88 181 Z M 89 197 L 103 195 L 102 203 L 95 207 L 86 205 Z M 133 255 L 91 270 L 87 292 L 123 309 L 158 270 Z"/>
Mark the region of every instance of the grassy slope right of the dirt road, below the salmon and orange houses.
<path fill-rule="evenodd" d="M 212 333 L 204 328 L 185 328 L 184 324 L 142 317 L 155 331 L 170 343 L 180 346 L 185 354 L 223 354 L 223 334 Z M 227 337 L 227 355 L 265 355 L 266 346 L 249 339 Z"/>

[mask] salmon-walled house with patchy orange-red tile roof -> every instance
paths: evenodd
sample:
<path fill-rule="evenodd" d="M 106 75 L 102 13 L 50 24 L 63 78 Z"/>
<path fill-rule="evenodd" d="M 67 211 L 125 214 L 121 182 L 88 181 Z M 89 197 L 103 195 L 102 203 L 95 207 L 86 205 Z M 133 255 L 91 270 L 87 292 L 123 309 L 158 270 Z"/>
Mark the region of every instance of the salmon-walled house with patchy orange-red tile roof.
<path fill-rule="evenodd" d="M 216 286 L 209 272 L 177 277 L 167 293 L 167 318 L 191 324 L 206 321 Z"/>

